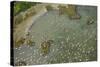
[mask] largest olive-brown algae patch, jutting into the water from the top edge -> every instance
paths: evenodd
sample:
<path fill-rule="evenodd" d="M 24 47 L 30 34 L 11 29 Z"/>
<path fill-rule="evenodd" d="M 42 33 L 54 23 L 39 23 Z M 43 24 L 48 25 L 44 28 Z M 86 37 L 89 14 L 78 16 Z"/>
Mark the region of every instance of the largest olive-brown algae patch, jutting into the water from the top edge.
<path fill-rule="evenodd" d="M 67 6 L 58 6 L 59 8 L 59 15 L 67 14 L 70 19 L 79 19 L 80 16 L 77 13 L 76 6 L 74 5 L 67 5 Z"/>

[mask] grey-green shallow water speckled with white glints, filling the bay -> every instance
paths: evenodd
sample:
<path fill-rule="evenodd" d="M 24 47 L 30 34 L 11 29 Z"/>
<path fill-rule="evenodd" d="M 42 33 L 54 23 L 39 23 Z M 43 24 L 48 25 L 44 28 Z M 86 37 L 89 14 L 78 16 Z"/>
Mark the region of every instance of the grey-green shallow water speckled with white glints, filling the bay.
<path fill-rule="evenodd" d="M 24 60 L 27 65 L 96 61 L 97 16 L 96 7 L 78 6 L 81 19 L 70 20 L 59 15 L 57 10 L 42 15 L 30 28 L 30 38 L 35 45 L 22 45 L 14 49 L 15 63 Z M 87 17 L 94 17 L 94 23 L 87 25 Z M 50 52 L 41 55 L 41 43 L 53 40 Z"/>

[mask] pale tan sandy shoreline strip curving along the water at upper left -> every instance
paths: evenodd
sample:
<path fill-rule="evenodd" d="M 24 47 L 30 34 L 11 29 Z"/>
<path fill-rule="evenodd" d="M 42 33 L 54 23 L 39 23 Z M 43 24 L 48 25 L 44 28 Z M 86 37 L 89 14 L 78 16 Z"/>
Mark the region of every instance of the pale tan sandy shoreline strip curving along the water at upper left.
<path fill-rule="evenodd" d="M 45 5 L 40 4 L 40 5 L 34 6 L 35 9 L 37 9 L 37 7 L 41 8 L 41 9 L 36 10 L 35 15 L 27 17 L 27 19 L 23 20 L 19 25 L 17 25 L 17 28 L 15 28 L 15 30 L 16 30 L 14 32 L 14 40 L 15 41 L 21 37 L 25 37 L 26 34 L 29 32 L 31 26 L 34 24 L 35 20 L 37 20 L 40 16 L 42 16 L 43 14 L 45 14 L 47 12 Z M 23 15 L 25 15 L 26 12 L 23 12 Z"/>

